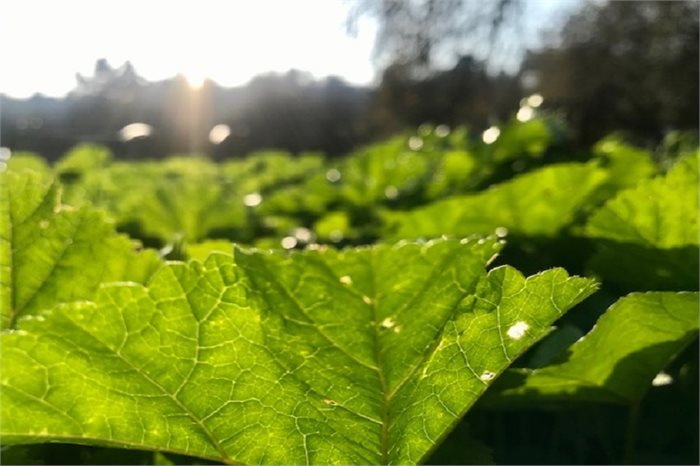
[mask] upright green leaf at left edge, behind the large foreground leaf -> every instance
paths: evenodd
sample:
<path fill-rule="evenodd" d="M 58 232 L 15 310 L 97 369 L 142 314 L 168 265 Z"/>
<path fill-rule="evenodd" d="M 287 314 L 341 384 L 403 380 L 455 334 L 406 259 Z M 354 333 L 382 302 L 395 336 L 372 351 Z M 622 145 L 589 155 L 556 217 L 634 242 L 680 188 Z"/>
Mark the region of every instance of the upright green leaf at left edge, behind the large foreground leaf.
<path fill-rule="evenodd" d="M 105 280 L 145 281 L 159 267 L 94 209 L 73 208 L 45 175 L 0 175 L 2 325 L 57 303 L 89 299 Z"/>

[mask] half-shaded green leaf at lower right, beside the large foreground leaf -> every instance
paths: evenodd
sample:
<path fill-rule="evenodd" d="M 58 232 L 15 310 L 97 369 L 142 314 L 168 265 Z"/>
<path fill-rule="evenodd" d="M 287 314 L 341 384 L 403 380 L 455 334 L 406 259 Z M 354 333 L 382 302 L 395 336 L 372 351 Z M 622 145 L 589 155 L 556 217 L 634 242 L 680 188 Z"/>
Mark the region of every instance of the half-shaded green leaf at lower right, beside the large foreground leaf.
<path fill-rule="evenodd" d="M 634 403 L 698 336 L 698 293 L 633 293 L 613 304 L 566 360 L 499 380 L 487 404 L 533 400 Z M 497 396 L 495 396 L 497 395 Z"/>

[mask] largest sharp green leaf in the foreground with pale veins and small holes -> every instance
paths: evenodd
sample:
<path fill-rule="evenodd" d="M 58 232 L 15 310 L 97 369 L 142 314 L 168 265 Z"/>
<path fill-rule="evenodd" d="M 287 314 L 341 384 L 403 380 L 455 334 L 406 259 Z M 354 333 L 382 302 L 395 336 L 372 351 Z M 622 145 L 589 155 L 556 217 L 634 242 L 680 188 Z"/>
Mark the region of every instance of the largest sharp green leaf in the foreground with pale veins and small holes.
<path fill-rule="evenodd" d="M 590 294 L 493 240 L 212 254 L 2 336 L 2 440 L 225 462 L 415 463 Z"/>

